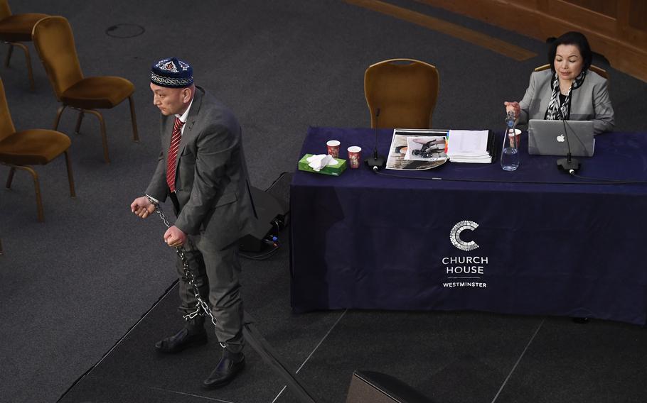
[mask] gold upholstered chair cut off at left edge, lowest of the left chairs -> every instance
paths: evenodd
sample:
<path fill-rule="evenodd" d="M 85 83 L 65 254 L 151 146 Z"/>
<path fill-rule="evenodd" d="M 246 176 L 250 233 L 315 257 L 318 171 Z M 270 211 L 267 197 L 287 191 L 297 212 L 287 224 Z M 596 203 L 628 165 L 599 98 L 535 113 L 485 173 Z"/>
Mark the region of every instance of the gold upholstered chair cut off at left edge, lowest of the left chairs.
<path fill-rule="evenodd" d="M 38 173 L 30 165 L 45 165 L 59 155 L 65 154 L 70 196 L 75 197 L 74 178 L 68 155 L 68 148 L 70 148 L 71 143 L 68 136 L 58 131 L 37 128 L 16 132 L 14 122 L 11 120 L 11 114 L 9 114 L 9 106 L 6 103 L 4 85 L 0 80 L 0 164 L 9 166 L 9 178 L 6 181 L 6 188 L 11 188 L 16 169 L 26 170 L 31 173 L 36 191 L 38 221 L 44 220 L 41 186 L 38 182 Z"/>

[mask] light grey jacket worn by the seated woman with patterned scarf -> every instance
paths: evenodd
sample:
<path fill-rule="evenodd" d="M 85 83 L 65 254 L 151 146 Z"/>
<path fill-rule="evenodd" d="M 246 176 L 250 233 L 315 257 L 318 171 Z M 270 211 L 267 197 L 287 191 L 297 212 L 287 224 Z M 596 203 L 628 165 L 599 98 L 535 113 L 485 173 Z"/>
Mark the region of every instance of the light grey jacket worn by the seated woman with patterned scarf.
<path fill-rule="evenodd" d="M 518 124 L 525 125 L 529 119 L 544 118 L 552 96 L 551 79 L 551 70 L 530 74 L 530 84 L 519 102 L 521 114 L 517 119 Z M 569 120 L 593 121 L 596 134 L 613 130 L 614 109 L 611 107 L 606 79 L 589 70 L 582 86 L 574 89 L 571 96 Z"/>

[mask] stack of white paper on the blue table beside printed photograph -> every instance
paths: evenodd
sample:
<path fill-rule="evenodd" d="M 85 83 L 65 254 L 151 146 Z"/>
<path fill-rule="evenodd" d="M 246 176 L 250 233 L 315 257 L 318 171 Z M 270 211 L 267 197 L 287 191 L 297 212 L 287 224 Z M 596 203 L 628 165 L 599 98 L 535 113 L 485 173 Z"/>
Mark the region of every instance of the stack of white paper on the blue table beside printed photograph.
<path fill-rule="evenodd" d="M 447 138 L 449 161 L 490 163 L 494 155 L 494 136 L 490 131 L 449 131 Z"/>

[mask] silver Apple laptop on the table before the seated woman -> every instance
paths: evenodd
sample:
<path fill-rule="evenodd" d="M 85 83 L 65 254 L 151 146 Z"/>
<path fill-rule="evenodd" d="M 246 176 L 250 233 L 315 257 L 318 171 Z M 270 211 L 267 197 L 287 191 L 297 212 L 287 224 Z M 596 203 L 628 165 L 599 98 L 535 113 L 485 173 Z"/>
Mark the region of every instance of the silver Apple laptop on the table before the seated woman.
<path fill-rule="evenodd" d="M 528 154 L 566 156 L 568 143 L 573 157 L 592 157 L 595 149 L 593 122 L 540 119 L 528 122 Z"/>

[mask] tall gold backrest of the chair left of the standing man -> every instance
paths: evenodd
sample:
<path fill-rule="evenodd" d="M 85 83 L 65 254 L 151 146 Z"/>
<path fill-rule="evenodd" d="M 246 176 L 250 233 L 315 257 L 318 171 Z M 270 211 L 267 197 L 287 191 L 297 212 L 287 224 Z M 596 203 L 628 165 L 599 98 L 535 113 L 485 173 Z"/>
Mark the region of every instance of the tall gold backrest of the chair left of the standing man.
<path fill-rule="evenodd" d="M 72 27 L 65 17 L 46 17 L 33 26 L 31 36 L 60 101 L 60 95 L 66 89 L 83 79 Z"/>

